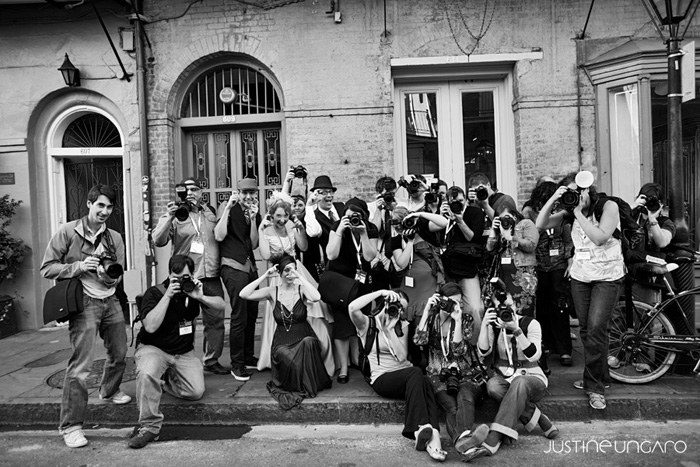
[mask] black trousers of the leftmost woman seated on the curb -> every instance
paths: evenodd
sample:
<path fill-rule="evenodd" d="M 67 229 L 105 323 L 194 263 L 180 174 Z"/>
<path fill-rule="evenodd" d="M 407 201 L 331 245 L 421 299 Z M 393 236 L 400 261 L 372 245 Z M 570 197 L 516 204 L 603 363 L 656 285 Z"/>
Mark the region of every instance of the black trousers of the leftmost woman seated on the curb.
<path fill-rule="evenodd" d="M 384 373 L 374 381 L 372 388 L 382 397 L 406 401 L 401 433 L 406 438 L 415 439 L 415 431 L 420 425 L 430 424 L 440 429 L 433 385 L 420 369 L 411 367 Z"/>

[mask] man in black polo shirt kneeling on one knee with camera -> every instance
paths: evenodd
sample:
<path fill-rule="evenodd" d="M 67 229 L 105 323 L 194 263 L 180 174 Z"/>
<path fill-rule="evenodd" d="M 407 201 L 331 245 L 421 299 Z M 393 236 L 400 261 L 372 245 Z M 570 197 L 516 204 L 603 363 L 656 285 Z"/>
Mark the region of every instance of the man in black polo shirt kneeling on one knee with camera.
<path fill-rule="evenodd" d="M 194 261 L 189 256 L 170 258 L 168 273 L 165 282 L 146 290 L 139 307 L 143 327 L 134 355 L 139 426 L 128 443 L 132 449 L 158 440 L 163 391 L 179 399 L 202 398 L 204 368 L 194 354 L 194 320 L 200 306 L 221 312 L 225 308 L 223 298 L 205 295 L 202 282 L 193 276 Z"/>

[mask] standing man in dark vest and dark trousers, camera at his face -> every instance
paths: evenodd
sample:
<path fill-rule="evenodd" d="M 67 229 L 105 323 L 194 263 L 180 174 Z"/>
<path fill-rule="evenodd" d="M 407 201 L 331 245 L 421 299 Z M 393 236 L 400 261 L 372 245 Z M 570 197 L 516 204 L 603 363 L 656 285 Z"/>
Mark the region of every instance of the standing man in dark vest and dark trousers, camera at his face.
<path fill-rule="evenodd" d="M 231 375 L 238 381 L 250 379 L 247 368 L 255 368 L 253 356 L 258 303 L 243 300 L 239 293 L 258 278 L 253 250 L 258 247 L 258 183 L 254 178 L 238 181 L 214 228 L 221 251 L 221 278 L 231 298 Z"/>

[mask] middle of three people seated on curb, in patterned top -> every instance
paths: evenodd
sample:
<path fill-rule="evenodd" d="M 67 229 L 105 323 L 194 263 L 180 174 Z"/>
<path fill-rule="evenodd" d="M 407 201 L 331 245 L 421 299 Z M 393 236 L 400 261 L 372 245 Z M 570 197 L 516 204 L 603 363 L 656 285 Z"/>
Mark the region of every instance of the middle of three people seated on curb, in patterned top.
<path fill-rule="evenodd" d="M 470 342 L 474 319 L 462 313 L 462 290 L 454 282 L 440 287 L 428 299 L 418 323 L 416 345 L 428 346 L 426 372 L 435 390 L 435 401 L 445 413 L 447 434 L 460 454 L 479 446 L 488 426 L 474 424 L 474 406 L 483 394 L 487 375 L 475 346 Z"/>

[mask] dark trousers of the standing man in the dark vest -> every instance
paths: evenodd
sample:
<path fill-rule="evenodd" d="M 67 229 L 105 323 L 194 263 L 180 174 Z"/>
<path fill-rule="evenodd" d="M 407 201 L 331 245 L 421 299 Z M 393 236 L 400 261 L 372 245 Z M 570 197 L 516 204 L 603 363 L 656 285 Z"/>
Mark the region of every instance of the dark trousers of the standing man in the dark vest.
<path fill-rule="evenodd" d="M 241 368 L 253 358 L 255 321 L 258 319 L 258 302 L 243 300 L 239 294 L 243 287 L 257 279 L 256 271 L 243 272 L 229 266 L 221 267 L 221 279 L 231 297 L 231 326 L 229 345 L 231 368 Z"/>

